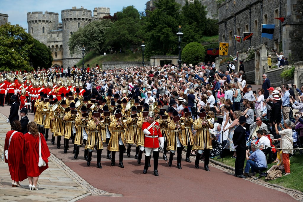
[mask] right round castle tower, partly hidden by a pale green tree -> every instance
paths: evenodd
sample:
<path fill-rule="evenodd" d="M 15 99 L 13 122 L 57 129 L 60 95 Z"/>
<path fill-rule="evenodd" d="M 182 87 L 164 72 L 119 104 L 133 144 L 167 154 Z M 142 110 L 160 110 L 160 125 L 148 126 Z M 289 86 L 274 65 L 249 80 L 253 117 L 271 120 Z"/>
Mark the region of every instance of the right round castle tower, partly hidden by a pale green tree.
<path fill-rule="evenodd" d="M 79 51 L 76 51 L 73 55 L 71 55 L 68 49 L 68 40 L 75 31 L 78 31 L 80 27 L 84 27 L 91 22 L 92 11 L 84 9 L 83 7 L 73 7 L 72 9 L 62 10 L 61 18 L 63 29 L 63 66 L 71 67 L 82 58 L 82 53 L 81 49 L 79 48 Z"/>

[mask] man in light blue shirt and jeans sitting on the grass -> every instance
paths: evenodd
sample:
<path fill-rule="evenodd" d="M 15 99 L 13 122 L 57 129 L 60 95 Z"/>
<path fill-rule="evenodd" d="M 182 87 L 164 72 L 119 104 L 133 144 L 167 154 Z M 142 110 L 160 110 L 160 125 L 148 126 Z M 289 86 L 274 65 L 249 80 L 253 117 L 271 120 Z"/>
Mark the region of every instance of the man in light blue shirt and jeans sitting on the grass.
<path fill-rule="evenodd" d="M 267 168 L 265 154 L 255 144 L 251 144 L 252 154 L 246 150 L 246 166 L 244 176 L 254 176 L 256 172 L 264 171 Z M 251 168 L 251 174 L 249 169 Z"/>

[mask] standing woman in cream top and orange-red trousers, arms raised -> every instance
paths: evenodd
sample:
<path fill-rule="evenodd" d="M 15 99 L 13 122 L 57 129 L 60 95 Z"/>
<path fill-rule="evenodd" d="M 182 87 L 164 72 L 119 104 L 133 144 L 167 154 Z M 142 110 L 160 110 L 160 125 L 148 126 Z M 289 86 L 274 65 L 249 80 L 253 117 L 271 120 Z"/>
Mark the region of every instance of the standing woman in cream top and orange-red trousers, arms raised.
<path fill-rule="evenodd" d="M 281 131 L 278 131 L 278 124 L 275 124 L 276 134 L 281 135 L 278 139 L 273 139 L 273 141 L 280 140 L 280 148 L 282 148 L 283 165 L 285 170 L 285 175 L 290 174 L 290 164 L 289 164 L 289 154 L 293 153 L 293 138 L 292 129 L 290 127 L 291 121 L 286 119 L 284 121 L 284 127 L 279 123 Z"/>

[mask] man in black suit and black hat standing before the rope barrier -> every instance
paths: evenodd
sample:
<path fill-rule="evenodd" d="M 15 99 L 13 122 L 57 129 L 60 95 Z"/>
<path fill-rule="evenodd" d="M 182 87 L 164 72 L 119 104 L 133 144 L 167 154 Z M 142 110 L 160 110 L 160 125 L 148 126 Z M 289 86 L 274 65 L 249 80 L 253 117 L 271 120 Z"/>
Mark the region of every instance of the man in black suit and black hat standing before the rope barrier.
<path fill-rule="evenodd" d="M 243 175 L 245 151 L 246 151 L 246 140 L 245 140 L 245 126 L 246 118 L 241 116 L 239 118 L 239 126 L 234 131 L 232 141 L 234 142 L 233 148 L 236 149 L 236 161 L 235 161 L 235 177 L 246 178 Z"/>

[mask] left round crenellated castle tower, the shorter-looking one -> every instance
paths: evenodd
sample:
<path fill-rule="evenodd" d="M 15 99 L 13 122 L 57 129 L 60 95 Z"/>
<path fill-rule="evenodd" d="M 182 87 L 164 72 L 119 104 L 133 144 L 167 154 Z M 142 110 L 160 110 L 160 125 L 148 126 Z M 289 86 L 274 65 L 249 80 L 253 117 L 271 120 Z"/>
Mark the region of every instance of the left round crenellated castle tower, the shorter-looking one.
<path fill-rule="evenodd" d="M 51 30 L 57 30 L 59 14 L 53 12 L 28 12 L 28 34 L 41 43 L 47 45 L 48 34 Z"/>

